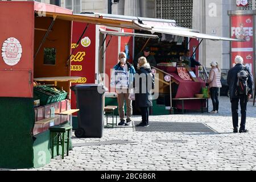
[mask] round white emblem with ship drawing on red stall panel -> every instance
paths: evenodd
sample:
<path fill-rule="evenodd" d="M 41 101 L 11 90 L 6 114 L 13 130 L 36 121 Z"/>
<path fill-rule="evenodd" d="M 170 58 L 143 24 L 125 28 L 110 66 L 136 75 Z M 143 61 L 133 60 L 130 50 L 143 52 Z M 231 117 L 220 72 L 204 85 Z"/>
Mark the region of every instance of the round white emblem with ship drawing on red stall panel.
<path fill-rule="evenodd" d="M 2 57 L 7 65 L 13 66 L 19 63 L 22 56 L 22 46 L 18 39 L 8 38 L 3 42 Z"/>

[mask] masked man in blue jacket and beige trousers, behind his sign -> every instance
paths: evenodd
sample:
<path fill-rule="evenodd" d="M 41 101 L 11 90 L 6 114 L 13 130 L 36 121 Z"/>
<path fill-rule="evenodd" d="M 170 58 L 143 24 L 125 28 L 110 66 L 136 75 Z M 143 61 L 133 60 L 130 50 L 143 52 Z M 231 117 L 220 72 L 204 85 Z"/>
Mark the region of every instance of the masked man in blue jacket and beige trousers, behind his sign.
<path fill-rule="evenodd" d="M 125 52 L 119 53 L 118 60 L 119 60 L 119 63 L 114 66 L 114 69 L 118 71 L 129 72 L 130 73 L 129 84 L 132 85 L 134 74 L 136 73 L 133 65 L 126 60 Z M 131 117 L 133 117 L 133 105 L 132 105 L 132 101 L 129 100 L 130 90 L 127 89 L 125 91 L 126 92 L 117 93 L 118 113 L 120 118 L 120 122 L 118 123 L 118 126 L 130 126 Z M 124 107 L 125 102 L 126 102 L 126 115 L 127 115 L 126 122 L 125 122 L 125 107 Z"/>

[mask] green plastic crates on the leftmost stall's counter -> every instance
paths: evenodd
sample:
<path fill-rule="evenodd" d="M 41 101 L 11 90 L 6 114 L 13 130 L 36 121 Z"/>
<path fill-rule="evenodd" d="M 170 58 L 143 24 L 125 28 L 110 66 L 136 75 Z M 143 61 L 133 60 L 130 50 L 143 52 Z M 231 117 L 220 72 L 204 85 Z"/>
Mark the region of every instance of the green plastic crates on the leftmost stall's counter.
<path fill-rule="evenodd" d="M 67 92 L 50 86 L 39 85 L 34 87 L 34 99 L 40 100 L 40 105 L 48 105 L 54 102 L 65 100 Z"/>

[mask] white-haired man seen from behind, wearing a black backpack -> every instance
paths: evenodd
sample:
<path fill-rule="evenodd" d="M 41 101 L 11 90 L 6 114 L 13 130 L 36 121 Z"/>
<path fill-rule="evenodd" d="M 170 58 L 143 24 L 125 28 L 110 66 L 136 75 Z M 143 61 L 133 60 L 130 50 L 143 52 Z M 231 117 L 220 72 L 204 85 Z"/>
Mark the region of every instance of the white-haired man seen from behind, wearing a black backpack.
<path fill-rule="evenodd" d="M 232 119 L 234 133 L 238 133 L 238 104 L 241 106 L 241 125 L 239 133 L 247 133 L 246 124 L 246 107 L 253 92 L 253 76 L 249 68 L 243 66 L 243 58 L 236 56 L 236 66 L 228 72 L 228 85 L 230 92 L 230 101 L 232 105 Z"/>

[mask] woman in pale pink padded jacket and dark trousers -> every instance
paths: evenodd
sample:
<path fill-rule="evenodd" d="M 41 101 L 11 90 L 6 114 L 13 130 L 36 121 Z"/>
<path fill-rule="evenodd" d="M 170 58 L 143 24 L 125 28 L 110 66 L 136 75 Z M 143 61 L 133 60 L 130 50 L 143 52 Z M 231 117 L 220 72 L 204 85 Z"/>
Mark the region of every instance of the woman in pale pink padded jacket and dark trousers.
<path fill-rule="evenodd" d="M 213 61 L 210 63 L 210 66 L 212 69 L 210 70 L 210 76 L 208 78 L 207 83 L 209 84 L 210 88 L 210 97 L 212 98 L 212 105 L 213 110 L 210 111 L 210 114 L 217 114 L 218 113 L 218 90 L 222 87 L 221 85 L 221 72 L 218 68 L 218 63 L 216 61 Z"/>

